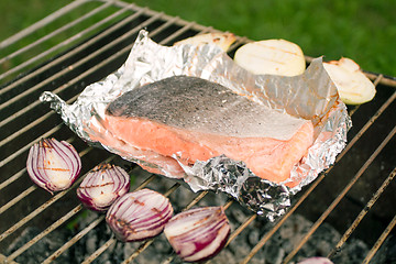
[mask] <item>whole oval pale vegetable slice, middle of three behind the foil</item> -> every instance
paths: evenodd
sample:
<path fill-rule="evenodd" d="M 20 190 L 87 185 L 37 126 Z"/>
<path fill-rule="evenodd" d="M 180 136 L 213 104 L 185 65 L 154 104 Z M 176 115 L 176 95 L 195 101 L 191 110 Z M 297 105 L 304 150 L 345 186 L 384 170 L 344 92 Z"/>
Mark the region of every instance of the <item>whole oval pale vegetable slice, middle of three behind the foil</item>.
<path fill-rule="evenodd" d="M 296 76 L 302 74 L 306 68 L 301 48 L 285 40 L 248 43 L 238 48 L 234 61 L 256 75 Z"/>

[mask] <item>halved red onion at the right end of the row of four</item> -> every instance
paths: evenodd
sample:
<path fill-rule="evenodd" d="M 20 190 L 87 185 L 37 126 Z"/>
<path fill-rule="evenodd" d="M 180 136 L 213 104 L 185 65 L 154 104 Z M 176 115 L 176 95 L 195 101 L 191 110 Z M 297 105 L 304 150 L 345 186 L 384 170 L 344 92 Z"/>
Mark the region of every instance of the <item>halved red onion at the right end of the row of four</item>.
<path fill-rule="evenodd" d="M 176 215 L 165 224 L 164 233 L 182 260 L 200 262 L 222 250 L 230 230 L 222 207 L 204 207 Z"/>

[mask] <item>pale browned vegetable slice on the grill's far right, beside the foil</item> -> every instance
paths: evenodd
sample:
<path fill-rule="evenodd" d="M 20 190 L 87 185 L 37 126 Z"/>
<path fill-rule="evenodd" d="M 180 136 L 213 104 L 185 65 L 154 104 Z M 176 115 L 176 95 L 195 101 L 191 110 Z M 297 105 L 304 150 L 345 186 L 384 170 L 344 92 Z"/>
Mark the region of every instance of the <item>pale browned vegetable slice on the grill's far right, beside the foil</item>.
<path fill-rule="evenodd" d="M 344 103 L 361 105 L 374 98 L 376 92 L 374 84 L 352 59 L 342 57 L 340 61 L 323 63 L 323 66 Z"/>

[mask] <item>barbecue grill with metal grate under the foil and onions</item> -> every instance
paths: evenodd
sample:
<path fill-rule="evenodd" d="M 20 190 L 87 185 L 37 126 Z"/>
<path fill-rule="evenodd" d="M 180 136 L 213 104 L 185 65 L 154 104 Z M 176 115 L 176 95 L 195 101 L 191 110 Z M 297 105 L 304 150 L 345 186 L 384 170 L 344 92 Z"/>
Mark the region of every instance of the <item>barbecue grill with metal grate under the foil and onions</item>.
<path fill-rule="evenodd" d="M 79 8 L 89 11 L 70 20 L 69 15 Z M 15 48 L 19 41 L 43 29 L 52 31 L 22 48 Z M 353 127 L 348 134 L 346 147 L 338 155 L 333 166 L 293 198 L 283 217 L 268 222 L 224 194 L 195 194 L 178 182 L 150 174 L 111 153 L 88 146 L 63 124 L 58 114 L 38 101 L 40 95 L 48 90 L 68 103 L 73 102 L 87 85 L 102 79 L 123 64 L 142 29 L 146 29 L 150 37 L 163 45 L 217 31 L 121 1 L 76 0 L 0 43 L 1 50 L 8 53 L 0 58 L 2 66 L 18 62 L 18 57 L 26 52 L 34 54 L 0 73 L 0 262 L 28 263 L 30 260 L 32 263 L 56 263 L 68 260 L 103 263 L 103 255 L 111 263 L 148 263 L 146 260 L 151 263 L 180 262 L 163 242 L 162 235 L 143 242 L 118 242 L 106 228 L 105 216 L 90 212 L 79 204 L 76 186 L 102 162 L 125 168 L 133 179 L 131 189 L 150 187 L 168 196 L 176 211 L 194 206 L 224 206 L 232 233 L 227 246 L 211 263 L 223 263 L 224 260 L 289 263 L 315 255 L 328 256 L 337 262 L 353 240 L 362 241 L 366 250 L 351 263 L 396 261 L 393 246 L 396 223 L 394 77 L 365 72 L 376 85 L 377 95 L 369 103 L 349 107 Z M 63 38 L 42 50 L 41 46 L 54 36 Z M 250 41 L 246 37 L 237 38 L 230 48 L 231 56 L 239 46 Z M 311 57 L 307 57 L 307 62 L 310 61 Z M 42 138 L 68 141 L 82 160 L 79 179 L 70 189 L 53 196 L 37 188 L 25 168 L 29 148 Z M 297 234 L 301 217 L 307 224 Z M 295 222 L 290 226 L 293 219 Z M 324 237 L 331 238 L 317 235 L 326 227 L 331 227 L 340 235 L 336 239 L 329 233 Z M 279 241 L 279 238 L 285 238 L 285 230 L 290 232 L 289 240 Z M 89 239 L 92 235 L 97 238 L 95 243 Z M 308 244 L 312 244 L 314 240 L 315 244 L 320 244 L 326 239 L 331 241 L 327 243 L 329 246 L 322 250 L 316 248 L 308 255 L 305 250 Z M 288 243 L 282 254 L 271 253 L 270 248 L 274 248 L 276 240 Z M 48 241 L 56 243 L 48 244 Z M 46 252 L 37 255 L 41 244 Z M 87 244 L 90 244 L 89 249 L 82 252 Z M 242 244 L 246 249 L 240 249 Z M 78 258 L 76 255 L 79 252 Z M 351 255 L 350 251 L 348 254 Z M 229 258 L 230 255 L 233 255 L 232 258 Z"/>

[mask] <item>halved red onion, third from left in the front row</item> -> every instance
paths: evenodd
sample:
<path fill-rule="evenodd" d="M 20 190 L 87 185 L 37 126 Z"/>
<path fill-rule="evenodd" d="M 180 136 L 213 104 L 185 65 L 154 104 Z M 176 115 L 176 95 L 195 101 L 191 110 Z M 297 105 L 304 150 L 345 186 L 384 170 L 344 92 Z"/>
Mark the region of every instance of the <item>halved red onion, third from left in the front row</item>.
<path fill-rule="evenodd" d="M 173 216 L 169 200 L 151 189 L 121 196 L 107 212 L 106 221 L 121 241 L 153 238 Z"/>

